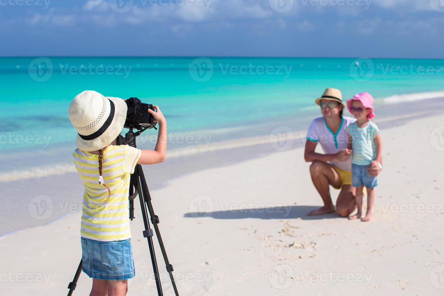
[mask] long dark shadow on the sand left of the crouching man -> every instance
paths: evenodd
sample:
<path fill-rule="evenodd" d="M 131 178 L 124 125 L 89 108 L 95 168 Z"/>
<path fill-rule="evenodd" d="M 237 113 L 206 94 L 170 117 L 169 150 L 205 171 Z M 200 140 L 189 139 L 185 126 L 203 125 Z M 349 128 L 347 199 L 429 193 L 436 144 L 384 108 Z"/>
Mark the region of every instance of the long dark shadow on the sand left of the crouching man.
<path fill-rule="evenodd" d="M 307 213 L 319 206 L 312 205 L 283 205 L 272 208 L 256 208 L 256 209 L 226 209 L 215 212 L 193 212 L 186 213 L 183 217 L 190 218 L 214 218 L 214 219 L 295 219 L 302 218 L 304 220 L 320 220 L 341 218 L 337 213 L 329 213 L 319 216 L 307 216 Z"/>

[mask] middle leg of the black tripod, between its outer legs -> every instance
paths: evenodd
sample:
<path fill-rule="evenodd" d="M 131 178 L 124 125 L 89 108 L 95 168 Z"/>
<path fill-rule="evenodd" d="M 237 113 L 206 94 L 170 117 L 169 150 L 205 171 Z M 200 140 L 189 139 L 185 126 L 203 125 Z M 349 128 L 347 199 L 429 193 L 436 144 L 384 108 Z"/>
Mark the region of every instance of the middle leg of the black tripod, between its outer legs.
<path fill-rule="evenodd" d="M 142 167 L 140 165 L 136 165 L 134 173 L 137 176 L 137 187 L 139 190 L 140 209 L 142 210 L 143 224 L 145 226 L 145 230 L 143 231 L 143 237 L 146 237 L 148 240 L 148 247 L 150 248 L 151 263 L 153 264 L 153 271 L 154 271 L 154 277 L 155 277 L 155 281 L 156 281 L 157 293 L 159 294 L 159 296 L 163 296 L 162 285 L 160 283 L 160 277 L 159 277 L 159 269 L 157 267 L 157 260 L 156 260 L 156 255 L 154 252 L 153 230 L 150 228 L 150 222 L 148 222 L 147 208 L 145 206 L 145 201 L 144 201 L 145 196 L 142 191 L 142 184 L 141 184 L 141 179 L 140 179 L 140 172 L 141 171 L 142 171 Z M 143 179 L 142 182 L 145 182 L 145 179 Z"/>

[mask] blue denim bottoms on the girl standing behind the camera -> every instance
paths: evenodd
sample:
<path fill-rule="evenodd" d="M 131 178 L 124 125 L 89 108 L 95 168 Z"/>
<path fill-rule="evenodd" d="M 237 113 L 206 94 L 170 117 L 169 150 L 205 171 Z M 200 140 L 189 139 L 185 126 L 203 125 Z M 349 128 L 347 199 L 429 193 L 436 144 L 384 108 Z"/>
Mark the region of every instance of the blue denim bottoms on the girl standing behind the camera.
<path fill-rule="evenodd" d="M 126 280 L 135 276 L 131 238 L 123 241 L 96 241 L 80 237 L 82 270 L 102 280 Z"/>

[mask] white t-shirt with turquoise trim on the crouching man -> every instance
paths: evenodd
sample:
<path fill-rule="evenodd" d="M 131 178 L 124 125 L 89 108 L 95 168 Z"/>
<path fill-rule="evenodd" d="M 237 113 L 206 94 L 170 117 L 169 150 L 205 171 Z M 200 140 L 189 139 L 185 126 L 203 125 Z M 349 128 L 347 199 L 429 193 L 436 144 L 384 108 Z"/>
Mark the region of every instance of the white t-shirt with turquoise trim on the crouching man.
<path fill-rule="evenodd" d="M 343 116 L 337 133 L 333 134 L 327 126 L 324 117 L 315 118 L 308 128 L 307 139 L 313 142 L 319 142 L 325 154 L 337 153 L 342 149 L 347 148 L 348 134 L 346 128 L 355 121 L 356 118 Z M 345 162 L 331 161 L 329 163 L 341 170 L 352 171 L 351 157 Z"/>

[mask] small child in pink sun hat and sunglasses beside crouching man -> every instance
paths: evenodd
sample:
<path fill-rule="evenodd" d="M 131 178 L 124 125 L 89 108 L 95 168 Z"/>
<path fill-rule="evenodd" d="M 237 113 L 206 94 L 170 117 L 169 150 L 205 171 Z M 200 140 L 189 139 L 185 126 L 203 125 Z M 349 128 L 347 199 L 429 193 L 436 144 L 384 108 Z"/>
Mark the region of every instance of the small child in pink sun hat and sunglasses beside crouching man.
<path fill-rule="evenodd" d="M 367 188 L 367 213 L 361 221 L 370 221 L 373 215 L 375 201 L 374 188 L 378 185 L 377 178 L 367 171 L 368 166 L 381 165 L 381 136 L 380 130 L 369 119 L 375 117 L 373 113 L 373 97 L 363 92 L 347 100 L 347 107 L 357 119 L 347 126 L 349 134 L 349 149 L 352 149 L 352 185 L 356 187 L 356 203 L 358 212 L 349 219 L 362 216 L 362 197 L 364 186 Z"/>

